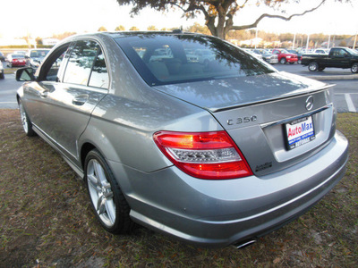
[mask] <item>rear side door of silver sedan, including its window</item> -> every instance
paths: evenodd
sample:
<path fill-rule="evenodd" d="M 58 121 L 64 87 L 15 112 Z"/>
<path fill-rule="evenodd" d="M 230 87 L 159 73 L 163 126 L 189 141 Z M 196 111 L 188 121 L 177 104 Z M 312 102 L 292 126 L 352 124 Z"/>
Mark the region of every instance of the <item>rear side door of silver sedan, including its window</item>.
<path fill-rule="evenodd" d="M 95 40 L 78 40 L 64 56 L 56 81 L 40 82 L 44 105 L 38 126 L 70 160 L 79 158 L 77 140 L 90 114 L 107 95 L 109 75 L 103 49 Z"/>

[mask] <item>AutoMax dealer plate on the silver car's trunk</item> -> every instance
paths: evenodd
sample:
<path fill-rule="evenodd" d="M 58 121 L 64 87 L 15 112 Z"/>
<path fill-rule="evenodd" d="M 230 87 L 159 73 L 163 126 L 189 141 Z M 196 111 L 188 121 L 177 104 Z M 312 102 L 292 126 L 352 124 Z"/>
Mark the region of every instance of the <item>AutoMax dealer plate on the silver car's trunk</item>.
<path fill-rule="evenodd" d="M 286 123 L 286 147 L 292 150 L 315 139 L 311 116 Z"/>

